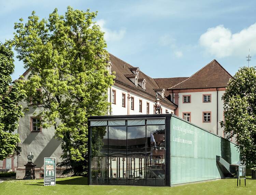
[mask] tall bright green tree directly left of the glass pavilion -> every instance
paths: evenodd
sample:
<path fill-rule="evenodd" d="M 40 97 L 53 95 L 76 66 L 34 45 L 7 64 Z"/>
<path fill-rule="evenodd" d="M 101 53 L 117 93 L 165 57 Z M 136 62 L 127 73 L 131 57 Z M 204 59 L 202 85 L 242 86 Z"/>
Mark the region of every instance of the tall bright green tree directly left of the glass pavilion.
<path fill-rule="evenodd" d="M 58 165 L 67 168 L 65 174 L 87 174 L 87 117 L 106 114 L 109 107 L 114 76 L 106 70 L 108 52 L 96 16 L 69 6 L 65 15 L 55 9 L 42 20 L 32 12 L 27 23 L 20 19 L 14 27 L 17 58 L 30 69 L 26 101 L 38 98 L 42 127 L 55 127 L 63 151 Z"/>

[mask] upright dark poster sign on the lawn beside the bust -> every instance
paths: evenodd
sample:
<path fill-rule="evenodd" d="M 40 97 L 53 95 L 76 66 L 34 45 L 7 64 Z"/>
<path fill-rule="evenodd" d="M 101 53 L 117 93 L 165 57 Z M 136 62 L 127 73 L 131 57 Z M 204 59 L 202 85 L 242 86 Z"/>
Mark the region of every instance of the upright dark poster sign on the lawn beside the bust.
<path fill-rule="evenodd" d="M 56 158 L 44 158 L 44 185 L 56 183 Z"/>

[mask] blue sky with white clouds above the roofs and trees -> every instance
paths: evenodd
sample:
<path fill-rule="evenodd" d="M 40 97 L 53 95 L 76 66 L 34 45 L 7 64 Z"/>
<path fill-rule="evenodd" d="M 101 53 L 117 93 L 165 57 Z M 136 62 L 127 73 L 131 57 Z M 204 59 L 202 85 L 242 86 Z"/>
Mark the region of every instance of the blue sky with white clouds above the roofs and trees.
<path fill-rule="evenodd" d="M 98 11 L 107 50 L 152 78 L 189 77 L 216 59 L 231 75 L 256 64 L 256 1 L 0 0 L 0 42 L 32 11 L 48 18 L 67 6 Z M 15 59 L 13 80 L 24 73 Z"/>

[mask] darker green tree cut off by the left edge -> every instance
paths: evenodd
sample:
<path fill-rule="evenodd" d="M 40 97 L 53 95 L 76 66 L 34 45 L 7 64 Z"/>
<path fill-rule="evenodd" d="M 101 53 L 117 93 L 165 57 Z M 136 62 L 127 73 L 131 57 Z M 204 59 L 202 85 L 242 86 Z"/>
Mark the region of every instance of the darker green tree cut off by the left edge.
<path fill-rule="evenodd" d="M 24 98 L 22 81 L 11 83 L 14 72 L 13 51 L 10 46 L 0 43 L 0 160 L 19 152 L 19 117 L 23 116 L 18 102 Z"/>

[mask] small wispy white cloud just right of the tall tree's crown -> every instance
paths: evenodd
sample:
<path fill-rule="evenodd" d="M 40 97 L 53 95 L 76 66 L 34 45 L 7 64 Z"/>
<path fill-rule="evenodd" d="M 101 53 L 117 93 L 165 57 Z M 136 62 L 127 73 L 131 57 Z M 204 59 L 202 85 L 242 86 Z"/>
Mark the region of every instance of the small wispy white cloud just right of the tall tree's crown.
<path fill-rule="evenodd" d="M 108 28 L 105 28 L 105 20 L 103 19 L 98 20 L 96 23 L 97 25 L 100 26 L 101 30 L 105 33 L 104 38 L 107 42 L 121 40 L 126 33 L 125 29 L 121 29 L 119 31 L 112 31 Z"/>

